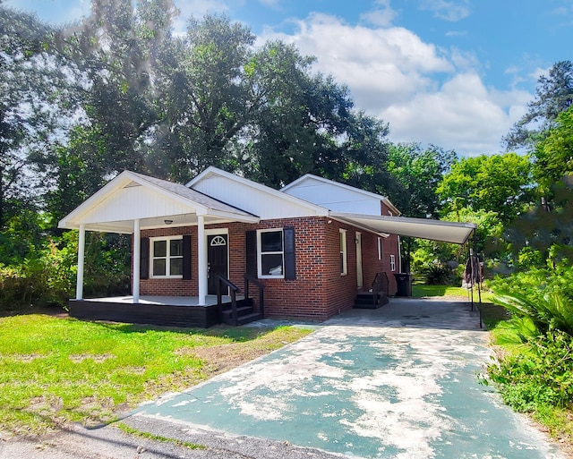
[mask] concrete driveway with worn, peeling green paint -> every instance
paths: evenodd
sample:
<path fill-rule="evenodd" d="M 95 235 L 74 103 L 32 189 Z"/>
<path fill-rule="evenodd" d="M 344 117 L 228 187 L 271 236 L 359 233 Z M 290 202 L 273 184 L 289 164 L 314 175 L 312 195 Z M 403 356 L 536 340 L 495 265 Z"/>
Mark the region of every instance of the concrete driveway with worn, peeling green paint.
<path fill-rule="evenodd" d="M 175 421 L 348 457 L 562 457 L 478 384 L 487 340 L 468 303 L 393 299 L 125 421 L 147 430 Z"/>

